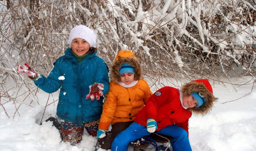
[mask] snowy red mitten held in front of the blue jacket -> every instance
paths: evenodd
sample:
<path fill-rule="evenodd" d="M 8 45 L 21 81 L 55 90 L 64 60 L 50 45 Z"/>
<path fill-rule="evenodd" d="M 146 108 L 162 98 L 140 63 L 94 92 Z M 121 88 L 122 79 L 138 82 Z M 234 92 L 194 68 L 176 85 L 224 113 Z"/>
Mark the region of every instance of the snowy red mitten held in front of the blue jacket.
<path fill-rule="evenodd" d="M 86 95 L 86 99 L 91 98 L 93 101 L 96 97 L 96 100 L 100 100 L 100 96 L 103 95 L 102 90 L 104 90 L 104 85 L 101 83 L 93 83 L 90 86 L 90 93 Z"/>

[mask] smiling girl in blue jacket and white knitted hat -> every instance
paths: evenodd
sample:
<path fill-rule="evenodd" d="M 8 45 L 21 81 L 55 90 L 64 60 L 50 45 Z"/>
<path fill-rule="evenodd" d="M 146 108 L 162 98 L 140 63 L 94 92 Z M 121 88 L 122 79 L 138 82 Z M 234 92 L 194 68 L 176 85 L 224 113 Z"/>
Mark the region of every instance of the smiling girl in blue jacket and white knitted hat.
<path fill-rule="evenodd" d="M 46 78 L 28 64 L 18 64 L 17 71 L 27 75 L 47 93 L 60 89 L 57 116 L 61 121 L 62 140 L 72 145 L 82 140 L 84 127 L 96 136 L 102 113 L 103 95 L 108 93 L 108 67 L 96 56 L 96 35 L 84 25 L 69 34 L 65 55 L 53 64 Z"/>

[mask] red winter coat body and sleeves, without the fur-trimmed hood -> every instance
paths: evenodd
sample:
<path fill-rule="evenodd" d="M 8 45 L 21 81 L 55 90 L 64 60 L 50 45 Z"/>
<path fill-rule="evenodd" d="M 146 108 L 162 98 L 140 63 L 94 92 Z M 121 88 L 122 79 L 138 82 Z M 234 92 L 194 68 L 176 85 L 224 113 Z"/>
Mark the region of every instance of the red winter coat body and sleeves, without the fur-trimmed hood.
<path fill-rule="evenodd" d="M 134 122 L 147 127 L 147 119 L 156 120 L 156 131 L 176 124 L 188 132 L 188 119 L 192 112 L 184 109 L 180 102 L 179 89 L 163 87 L 148 98 L 147 104 L 136 115 Z"/>

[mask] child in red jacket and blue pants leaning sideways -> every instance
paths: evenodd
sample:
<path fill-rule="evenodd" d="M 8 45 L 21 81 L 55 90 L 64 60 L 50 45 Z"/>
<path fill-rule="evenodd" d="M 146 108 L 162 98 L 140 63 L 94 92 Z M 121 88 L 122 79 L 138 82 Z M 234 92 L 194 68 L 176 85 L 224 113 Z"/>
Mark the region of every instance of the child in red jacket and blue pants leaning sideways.
<path fill-rule="evenodd" d="M 191 81 L 181 88 L 163 87 L 148 98 L 134 122 L 119 133 L 112 151 L 127 151 L 129 143 L 152 132 L 172 136 L 173 151 L 192 151 L 188 140 L 188 119 L 204 116 L 217 100 L 207 79 Z"/>

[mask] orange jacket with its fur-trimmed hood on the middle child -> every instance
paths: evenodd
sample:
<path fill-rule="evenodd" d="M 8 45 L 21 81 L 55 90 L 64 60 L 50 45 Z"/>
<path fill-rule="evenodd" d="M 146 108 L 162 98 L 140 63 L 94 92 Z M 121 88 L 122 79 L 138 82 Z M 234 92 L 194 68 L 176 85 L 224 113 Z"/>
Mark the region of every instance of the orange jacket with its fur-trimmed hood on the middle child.
<path fill-rule="evenodd" d="M 132 87 L 123 87 L 119 69 L 121 64 L 128 63 L 134 68 L 134 80 L 138 83 Z M 133 121 L 136 114 L 146 104 L 152 95 L 148 83 L 142 79 L 142 70 L 138 59 L 131 51 L 120 50 L 110 68 L 109 91 L 105 96 L 106 102 L 100 117 L 99 129 L 108 130 L 109 125 L 116 122 Z"/>

